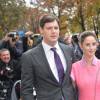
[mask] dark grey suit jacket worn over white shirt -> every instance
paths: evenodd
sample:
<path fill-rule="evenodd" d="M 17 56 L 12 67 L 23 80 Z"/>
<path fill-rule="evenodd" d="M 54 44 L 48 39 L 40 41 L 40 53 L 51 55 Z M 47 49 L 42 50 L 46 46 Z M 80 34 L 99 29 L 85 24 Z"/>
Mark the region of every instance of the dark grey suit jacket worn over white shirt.
<path fill-rule="evenodd" d="M 70 78 L 72 50 L 59 43 L 66 59 L 67 70 L 62 85 L 55 79 L 46 59 L 42 44 L 27 51 L 22 56 L 21 96 L 22 100 L 34 100 L 33 86 L 37 100 L 75 100 Z"/>

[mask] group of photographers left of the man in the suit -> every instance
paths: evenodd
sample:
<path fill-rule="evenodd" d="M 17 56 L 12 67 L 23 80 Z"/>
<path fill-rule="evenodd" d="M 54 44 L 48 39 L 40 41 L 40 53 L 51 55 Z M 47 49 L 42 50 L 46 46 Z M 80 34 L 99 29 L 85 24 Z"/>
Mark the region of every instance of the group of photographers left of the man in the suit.
<path fill-rule="evenodd" d="M 21 80 L 20 58 L 25 51 L 35 47 L 41 40 L 40 35 L 34 35 L 31 31 L 26 32 L 24 37 L 19 37 L 18 33 L 13 31 L 7 33 L 0 41 L 0 100 L 13 100 L 12 88 Z M 20 88 L 19 85 L 16 87 L 17 92 Z M 19 98 L 20 93 L 17 94 Z"/>

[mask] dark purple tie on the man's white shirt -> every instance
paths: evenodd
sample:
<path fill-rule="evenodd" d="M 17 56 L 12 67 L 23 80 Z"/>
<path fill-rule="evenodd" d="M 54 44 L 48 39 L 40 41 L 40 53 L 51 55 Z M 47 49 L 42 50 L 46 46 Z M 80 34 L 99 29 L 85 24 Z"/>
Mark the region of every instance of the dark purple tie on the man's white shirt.
<path fill-rule="evenodd" d="M 54 52 L 54 59 L 55 59 L 55 64 L 56 64 L 57 71 L 58 71 L 59 83 L 61 84 L 64 78 L 64 68 L 63 68 L 61 59 L 58 53 L 56 52 L 56 48 L 51 48 L 51 50 Z"/>

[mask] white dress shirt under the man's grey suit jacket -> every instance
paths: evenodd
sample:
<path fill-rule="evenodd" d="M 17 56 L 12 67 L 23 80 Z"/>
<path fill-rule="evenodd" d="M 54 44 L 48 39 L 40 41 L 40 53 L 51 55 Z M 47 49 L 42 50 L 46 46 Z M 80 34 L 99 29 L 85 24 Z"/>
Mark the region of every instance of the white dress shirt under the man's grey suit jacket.
<path fill-rule="evenodd" d="M 54 52 L 51 50 L 51 48 L 53 48 L 53 47 L 46 44 L 44 41 L 42 41 L 42 45 L 43 45 L 43 49 L 45 51 L 47 61 L 50 65 L 50 69 L 51 69 L 52 73 L 54 74 L 55 78 L 57 79 L 57 81 L 59 81 L 58 72 L 57 72 L 57 68 L 56 68 L 56 64 L 55 64 L 55 60 L 54 60 Z M 58 42 L 56 43 L 56 45 L 54 47 L 56 48 L 56 51 L 60 56 L 60 59 L 62 61 L 63 67 L 64 67 L 64 72 L 65 72 L 66 68 L 67 68 L 66 60 L 65 60 L 64 54 L 63 54 L 60 46 L 58 45 Z"/>

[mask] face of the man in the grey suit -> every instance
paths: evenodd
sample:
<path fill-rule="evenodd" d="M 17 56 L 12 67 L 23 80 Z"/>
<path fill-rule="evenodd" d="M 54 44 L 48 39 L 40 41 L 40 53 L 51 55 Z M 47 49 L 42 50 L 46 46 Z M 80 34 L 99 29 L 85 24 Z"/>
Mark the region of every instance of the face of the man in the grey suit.
<path fill-rule="evenodd" d="M 43 34 L 43 40 L 45 43 L 51 46 L 55 45 L 59 38 L 58 22 L 55 20 L 53 22 L 45 23 L 40 32 Z"/>

